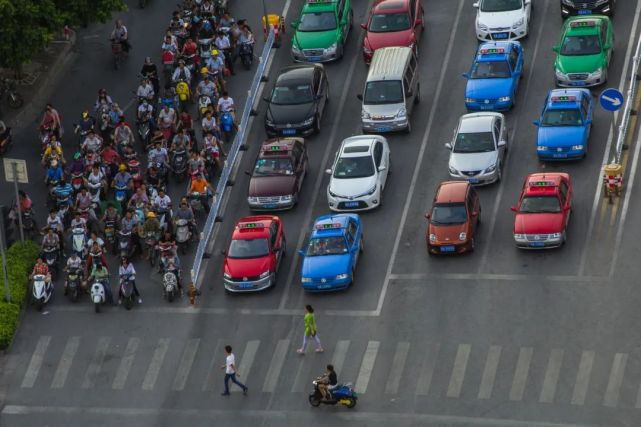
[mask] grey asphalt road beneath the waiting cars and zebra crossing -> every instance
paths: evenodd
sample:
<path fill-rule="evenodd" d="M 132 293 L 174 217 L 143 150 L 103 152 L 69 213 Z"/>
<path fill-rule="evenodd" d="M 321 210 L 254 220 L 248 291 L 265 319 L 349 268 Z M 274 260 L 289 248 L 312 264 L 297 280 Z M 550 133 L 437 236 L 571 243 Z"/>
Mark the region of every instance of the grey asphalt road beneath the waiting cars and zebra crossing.
<path fill-rule="evenodd" d="M 228 296 L 221 280 L 220 250 L 235 220 L 249 214 L 248 178 L 242 172 L 251 167 L 265 137 L 262 104 L 215 233 L 212 257 L 204 264 L 198 307 L 162 301 L 152 276 L 142 285 L 144 305 L 131 312 L 114 309 L 95 316 L 88 304 L 71 305 L 60 297 L 46 315 L 27 310 L 7 359 L 2 425 L 638 425 L 638 177 L 630 175 L 627 191 L 614 204 L 598 193 L 595 199 L 600 166 L 611 150 L 612 116 L 599 107 L 586 159 L 572 164 L 536 159 L 531 122 L 554 86 L 551 46 L 562 22 L 558 2 L 534 0 L 530 37 L 523 42 L 525 76 L 518 106 L 507 114 L 510 150 L 503 182 L 479 190 L 483 225 L 477 249 L 462 257 L 434 258 L 425 251 L 423 213 L 438 183 L 448 178 L 443 143 L 465 113 L 460 75 L 469 68 L 477 43 L 471 2 L 423 1 L 422 102 L 413 115 L 412 133 L 389 136 L 394 172 L 382 208 L 362 215 L 366 246 L 356 285 L 342 293 L 305 294 L 298 285 L 295 249 L 313 218 L 328 211 L 323 170 L 341 140 L 360 133 L 356 94 L 367 68 L 359 56 L 362 31 L 357 25 L 345 58 L 327 65 L 331 103 L 321 134 L 307 140 L 311 168 L 300 203 L 280 214 L 289 251 L 277 287 Z M 301 4 L 287 3 L 288 21 Z M 270 10 L 283 7 L 284 1 L 268 1 Z M 369 2 L 353 7 L 359 23 Z M 638 33 L 640 8 L 640 1 L 619 2 L 610 87 L 628 76 L 626 57 L 635 43 L 630 34 Z M 134 39 L 140 59 L 145 44 L 156 48 L 155 35 L 169 9 L 154 3 L 144 14 L 134 11 L 127 18 L 136 28 L 143 17 L 145 24 L 153 17 L 153 31 L 145 25 L 145 34 L 154 34 L 148 43 Z M 257 23 L 258 9 L 236 15 Z M 94 52 L 91 40 L 84 50 L 80 46 L 82 59 L 57 90 L 58 103 L 70 106 L 63 111 L 75 113 L 80 108 L 71 106 L 92 102 L 98 87 L 114 87 L 116 97 L 124 99 L 135 85 L 139 62 L 129 73 L 116 74 L 108 69 L 106 43 Z M 275 52 L 272 77 L 291 62 L 288 43 L 283 45 Z M 247 87 L 249 75 L 243 74 L 234 78 L 233 93 Z M 126 87 L 118 85 L 122 75 L 131 76 Z M 78 87 L 90 89 L 80 92 Z M 636 132 L 632 136 L 624 157 L 630 171 L 639 156 Z M 25 150 L 20 154 L 30 151 L 16 148 Z M 509 207 L 525 175 L 542 170 L 572 175 L 568 243 L 554 251 L 517 251 Z M 174 188 L 172 196 L 179 192 Z M 304 304 L 317 309 L 322 355 L 295 353 Z M 250 387 L 247 397 L 219 396 L 218 366 L 228 343 L 240 360 L 240 379 Z M 306 401 L 311 379 L 330 361 L 340 380 L 356 384 L 360 399 L 352 411 L 313 409 Z"/>

